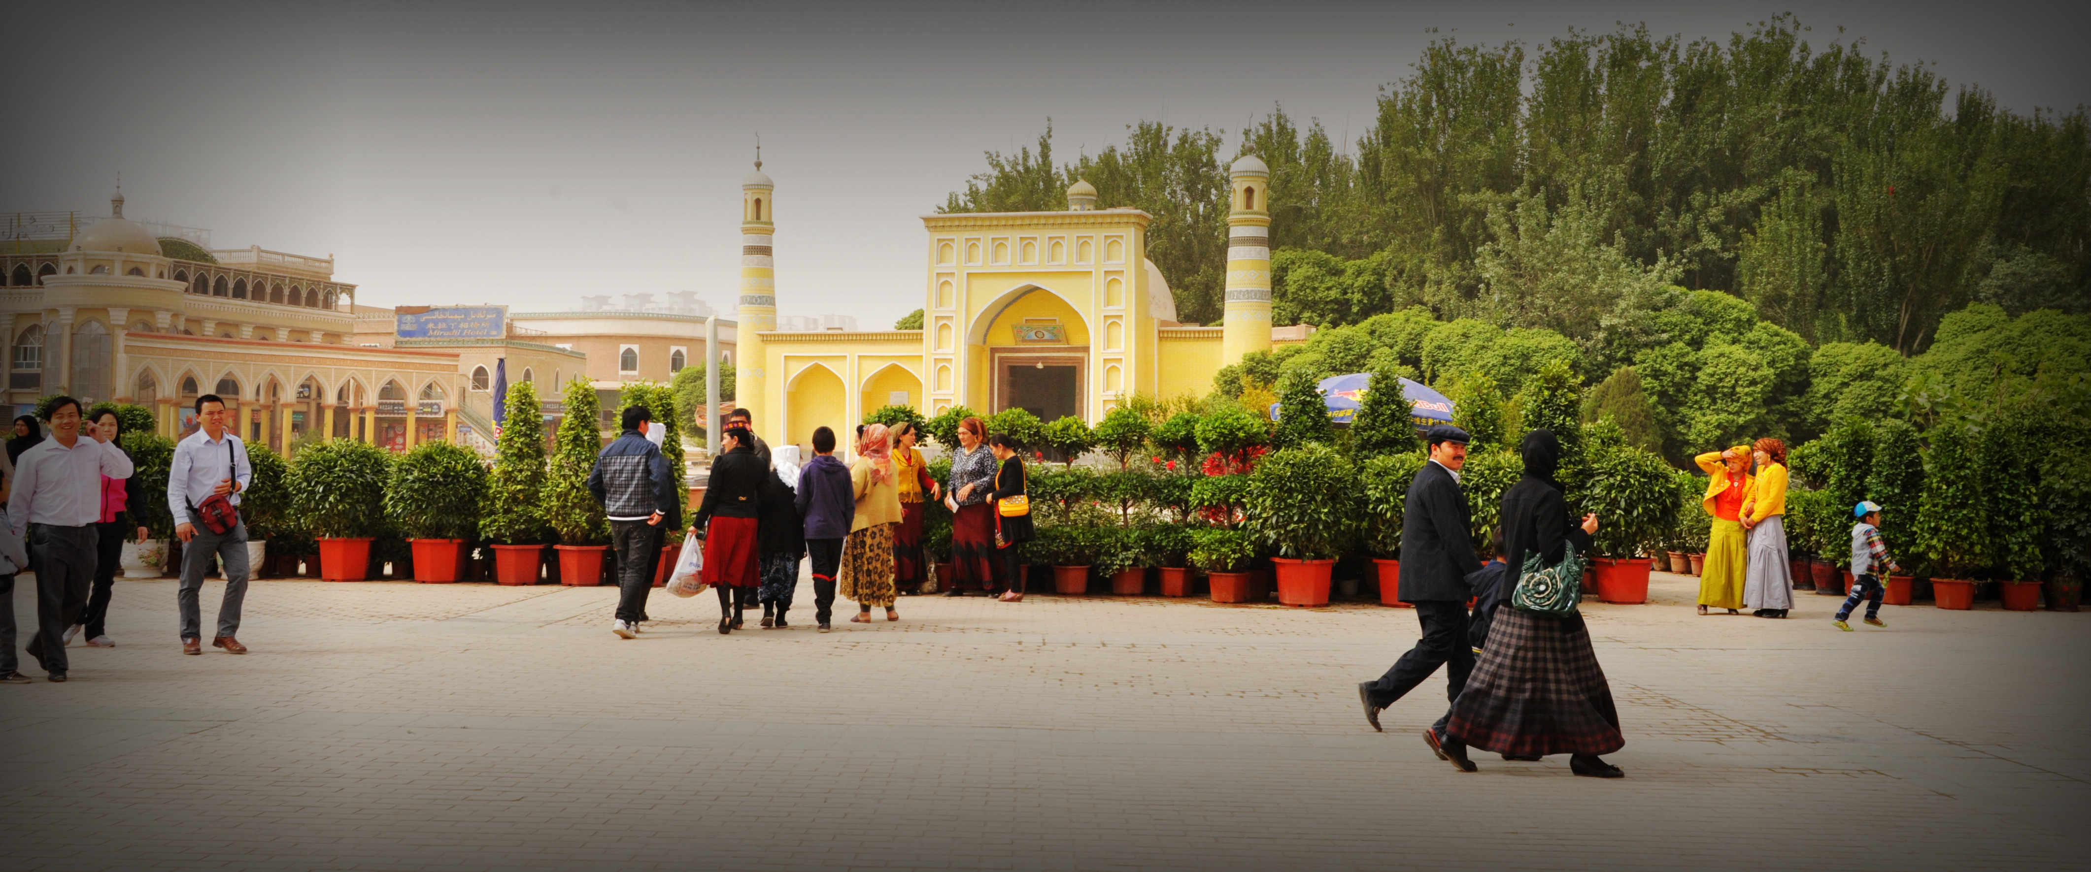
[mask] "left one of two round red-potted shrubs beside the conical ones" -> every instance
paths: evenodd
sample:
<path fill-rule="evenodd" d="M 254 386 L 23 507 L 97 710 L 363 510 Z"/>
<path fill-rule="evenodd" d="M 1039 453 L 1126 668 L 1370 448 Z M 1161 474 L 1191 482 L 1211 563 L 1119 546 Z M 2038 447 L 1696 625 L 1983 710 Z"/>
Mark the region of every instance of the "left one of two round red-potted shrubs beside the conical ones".
<path fill-rule="evenodd" d="M 370 577 L 370 540 L 385 525 L 385 481 L 391 454 L 366 441 L 330 439 L 297 452 L 291 462 L 291 510 L 320 540 L 320 577 Z"/>

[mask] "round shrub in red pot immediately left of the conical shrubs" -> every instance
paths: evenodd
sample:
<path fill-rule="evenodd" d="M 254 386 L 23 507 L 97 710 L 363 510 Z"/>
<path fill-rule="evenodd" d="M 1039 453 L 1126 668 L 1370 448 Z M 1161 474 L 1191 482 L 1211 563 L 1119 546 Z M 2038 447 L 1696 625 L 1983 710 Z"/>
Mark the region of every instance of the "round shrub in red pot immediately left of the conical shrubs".
<path fill-rule="evenodd" d="M 414 579 L 464 579 L 479 508 L 487 502 L 487 468 L 479 454 L 447 441 L 414 445 L 393 464 L 385 489 L 385 517 L 399 527 L 414 554 Z"/>

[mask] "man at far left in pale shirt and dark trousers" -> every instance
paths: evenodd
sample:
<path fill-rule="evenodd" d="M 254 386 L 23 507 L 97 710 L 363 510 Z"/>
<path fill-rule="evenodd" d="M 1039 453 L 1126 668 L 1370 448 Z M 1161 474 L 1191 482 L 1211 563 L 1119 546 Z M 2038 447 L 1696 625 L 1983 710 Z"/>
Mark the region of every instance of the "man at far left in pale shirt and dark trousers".
<path fill-rule="evenodd" d="M 50 439 L 15 460 L 8 527 L 27 533 L 36 573 L 36 657 L 52 682 L 65 680 L 65 627 L 88 609 L 102 519 L 102 477 L 130 479 L 132 462 L 96 429 L 79 435 L 79 401 L 59 397 L 44 412 Z"/>

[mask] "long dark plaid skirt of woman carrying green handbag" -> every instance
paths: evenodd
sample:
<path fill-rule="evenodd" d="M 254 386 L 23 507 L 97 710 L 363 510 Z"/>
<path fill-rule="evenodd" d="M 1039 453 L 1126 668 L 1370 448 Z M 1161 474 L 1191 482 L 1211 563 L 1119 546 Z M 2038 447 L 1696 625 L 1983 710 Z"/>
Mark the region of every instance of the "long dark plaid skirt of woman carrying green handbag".
<path fill-rule="evenodd" d="M 1445 732 L 1512 757 L 1608 755 L 1627 744 L 1583 617 L 1510 606 L 1497 609 Z"/>

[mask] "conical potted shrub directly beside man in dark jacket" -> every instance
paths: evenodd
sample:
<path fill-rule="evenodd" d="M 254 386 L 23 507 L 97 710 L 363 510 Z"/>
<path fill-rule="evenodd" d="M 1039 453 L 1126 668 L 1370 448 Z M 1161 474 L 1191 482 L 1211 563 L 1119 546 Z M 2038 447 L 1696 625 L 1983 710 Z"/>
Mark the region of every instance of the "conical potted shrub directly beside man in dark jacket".
<path fill-rule="evenodd" d="M 544 517 L 558 535 L 558 583 L 594 588 L 602 583 L 602 558 L 611 550 L 611 521 L 588 489 L 588 473 L 602 454 L 596 420 L 596 387 L 585 378 L 567 385 L 567 416 L 558 422 L 558 454 L 544 483 Z M 669 563 L 673 569 L 673 563 Z"/>

